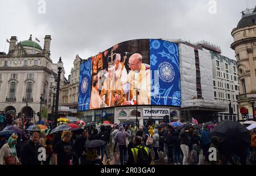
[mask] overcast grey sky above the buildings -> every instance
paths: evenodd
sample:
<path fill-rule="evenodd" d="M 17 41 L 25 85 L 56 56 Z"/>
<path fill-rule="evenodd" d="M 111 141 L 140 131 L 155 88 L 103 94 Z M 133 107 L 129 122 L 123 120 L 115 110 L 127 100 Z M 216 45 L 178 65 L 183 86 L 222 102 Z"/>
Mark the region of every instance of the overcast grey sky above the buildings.
<path fill-rule="evenodd" d="M 6 38 L 18 41 L 51 35 L 51 59 L 63 58 L 68 77 L 76 54 L 85 59 L 119 42 L 136 38 L 207 40 L 234 59 L 231 31 L 241 19 L 246 0 L 216 0 L 210 14 L 209 0 L 45 0 L 46 14 L 39 14 L 39 0 L 0 0 L 0 51 Z M 255 0 L 247 0 L 253 8 Z M 6 44 L 6 51 L 9 44 Z"/>

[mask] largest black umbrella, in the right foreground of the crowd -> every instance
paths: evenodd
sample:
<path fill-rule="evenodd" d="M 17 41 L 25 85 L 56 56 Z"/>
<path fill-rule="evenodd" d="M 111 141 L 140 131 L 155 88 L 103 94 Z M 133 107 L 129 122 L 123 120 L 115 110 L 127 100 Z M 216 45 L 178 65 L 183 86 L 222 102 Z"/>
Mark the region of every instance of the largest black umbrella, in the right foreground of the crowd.
<path fill-rule="evenodd" d="M 241 154 L 251 143 L 249 130 L 239 122 L 221 122 L 210 131 L 210 136 L 220 138 L 220 151 L 225 154 Z"/>

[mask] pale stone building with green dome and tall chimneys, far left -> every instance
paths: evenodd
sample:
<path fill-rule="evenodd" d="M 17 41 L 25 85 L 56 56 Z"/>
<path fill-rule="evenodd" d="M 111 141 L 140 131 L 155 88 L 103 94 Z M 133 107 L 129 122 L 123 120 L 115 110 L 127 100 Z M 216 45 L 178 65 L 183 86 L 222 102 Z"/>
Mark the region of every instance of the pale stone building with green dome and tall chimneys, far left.
<path fill-rule="evenodd" d="M 9 52 L 0 55 L 0 111 L 14 110 L 16 115 L 38 117 L 41 96 L 42 109 L 49 109 L 49 92 L 55 89 L 57 81 L 50 46 L 49 35 L 44 38 L 43 49 L 32 41 L 31 35 L 20 42 L 16 36 L 10 38 Z M 61 74 L 63 82 L 64 72 Z"/>

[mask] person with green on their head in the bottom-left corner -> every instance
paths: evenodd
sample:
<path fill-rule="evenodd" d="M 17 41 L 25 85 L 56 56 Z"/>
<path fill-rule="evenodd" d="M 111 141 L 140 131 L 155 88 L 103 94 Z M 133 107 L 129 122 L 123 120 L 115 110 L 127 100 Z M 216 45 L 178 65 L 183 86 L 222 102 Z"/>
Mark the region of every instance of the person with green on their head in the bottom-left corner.
<path fill-rule="evenodd" d="M 18 135 L 13 134 L 8 139 L 7 143 L 3 145 L 0 150 L 0 165 L 16 165 L 19 164 L 19 159 L 16 154 L 16 140 Z"/>

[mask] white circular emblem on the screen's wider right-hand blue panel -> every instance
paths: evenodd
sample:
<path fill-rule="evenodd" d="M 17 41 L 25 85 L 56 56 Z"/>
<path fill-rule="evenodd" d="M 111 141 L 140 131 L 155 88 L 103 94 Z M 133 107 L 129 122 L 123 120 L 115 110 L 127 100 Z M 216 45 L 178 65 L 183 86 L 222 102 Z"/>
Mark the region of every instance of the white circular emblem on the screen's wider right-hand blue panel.
<path fill-rule="evenodd" d="M 159 78 L 166 82 L 171 83 L 174 80 L 175 72 L 174 67 L 172 67 L 171 63 L 162 62 L 158 66 Z"/>

